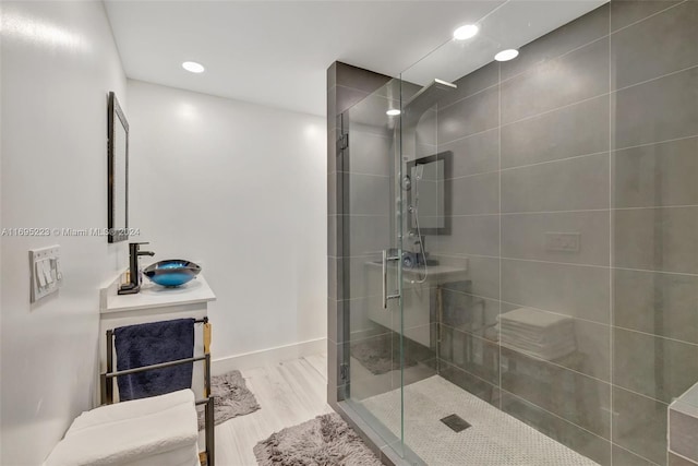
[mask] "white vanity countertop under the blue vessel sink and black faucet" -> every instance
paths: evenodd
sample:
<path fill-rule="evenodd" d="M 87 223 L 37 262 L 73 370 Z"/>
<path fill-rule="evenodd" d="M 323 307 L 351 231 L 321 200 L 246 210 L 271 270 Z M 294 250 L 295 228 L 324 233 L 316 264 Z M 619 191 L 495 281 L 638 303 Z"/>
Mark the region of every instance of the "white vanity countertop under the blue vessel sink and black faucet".
<path fill-rule="evenodd" d="M 115 287 L 110 287 L 106 292 L 106 307 L 103 307 L 99 311 L 103 314 L 216 300 L 216 295 L 214 295 L 214 291 L 202 274 L 198 274 L 193 280 L 177 288 L 166 288 L 144 277 L 141 292 L 135 295 L 118 295 Z"/>

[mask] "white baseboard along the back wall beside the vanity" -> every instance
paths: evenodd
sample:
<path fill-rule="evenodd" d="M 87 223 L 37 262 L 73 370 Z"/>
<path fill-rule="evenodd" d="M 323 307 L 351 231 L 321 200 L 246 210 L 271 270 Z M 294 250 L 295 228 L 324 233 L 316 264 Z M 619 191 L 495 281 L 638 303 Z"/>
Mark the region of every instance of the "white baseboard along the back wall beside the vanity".
<path fill-rule="evenodd" d="M 274 366 L 291 359 L 316 355 L 327 350 L 327 338 L 310 339 L 292 345 L 277 346 L 260 351 L 243 353 L 242 355 L 228 356 L 210 361 L 210 373 L 219 375 L 231 370 L 246 370 Z"/>

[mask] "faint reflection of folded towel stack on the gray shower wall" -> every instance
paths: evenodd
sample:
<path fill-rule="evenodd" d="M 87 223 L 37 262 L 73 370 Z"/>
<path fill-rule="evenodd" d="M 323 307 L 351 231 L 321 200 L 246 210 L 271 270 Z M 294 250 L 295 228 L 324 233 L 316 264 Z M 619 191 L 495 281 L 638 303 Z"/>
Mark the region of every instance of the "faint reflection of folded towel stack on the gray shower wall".
<path fill-rule="evenodd" d="M 500 343 L 537 358 L 553 360 L 577 349 L 575 322 L 565 315 L 531 308 L 505 312 L 500 321 Z"/>

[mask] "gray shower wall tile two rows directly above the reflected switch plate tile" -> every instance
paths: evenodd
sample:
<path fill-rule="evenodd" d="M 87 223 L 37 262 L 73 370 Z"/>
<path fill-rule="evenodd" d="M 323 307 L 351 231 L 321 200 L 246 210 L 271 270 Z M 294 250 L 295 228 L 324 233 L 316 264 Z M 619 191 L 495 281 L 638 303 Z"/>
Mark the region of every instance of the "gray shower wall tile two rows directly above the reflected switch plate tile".
<path fill-rule="evenodd" d="M 502 168 L 607 152 L 609 108 L 601 96 L 502 127 Z"/>

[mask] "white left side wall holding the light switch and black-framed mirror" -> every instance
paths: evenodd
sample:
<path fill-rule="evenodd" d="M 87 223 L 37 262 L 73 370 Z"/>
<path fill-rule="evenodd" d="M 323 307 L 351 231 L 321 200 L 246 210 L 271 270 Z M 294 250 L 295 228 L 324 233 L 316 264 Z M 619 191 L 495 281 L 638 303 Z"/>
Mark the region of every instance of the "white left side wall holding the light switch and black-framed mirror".
<path fill-rule="evenodd" d="M 107 225 L 107 93 L 125 76 L 101 2 L 3 2 L 1 225 Z M 64 286 L 29 304 L 28 249 L 58 243 Z M 100 237 L 2 237 L 1 454 L 39 464 L 92 405 L 98 288 L 125 265 Z"/>

